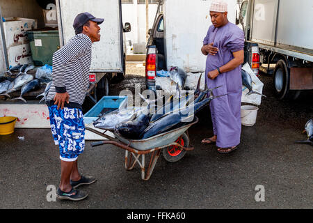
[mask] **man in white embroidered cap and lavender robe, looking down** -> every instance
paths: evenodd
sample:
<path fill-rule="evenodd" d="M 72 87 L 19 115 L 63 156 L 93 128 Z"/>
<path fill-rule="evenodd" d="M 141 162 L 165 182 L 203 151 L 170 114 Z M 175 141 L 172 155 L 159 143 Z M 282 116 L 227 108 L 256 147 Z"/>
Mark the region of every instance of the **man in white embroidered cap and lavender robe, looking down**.
<path fill-rule="evenodd" d="M 203 40 L 202 54 L 207 56 L 206 83 L 214 95 L 225 95 L 211 101 L 214 136 L 203 144 L 215 144 L 218 153 L 230 153 L 240 144 L 241 134 L 241 63 L 244 34 L 227 20 L 227 3 L 214 0 L 210 7 L 212 25 Z"/>

